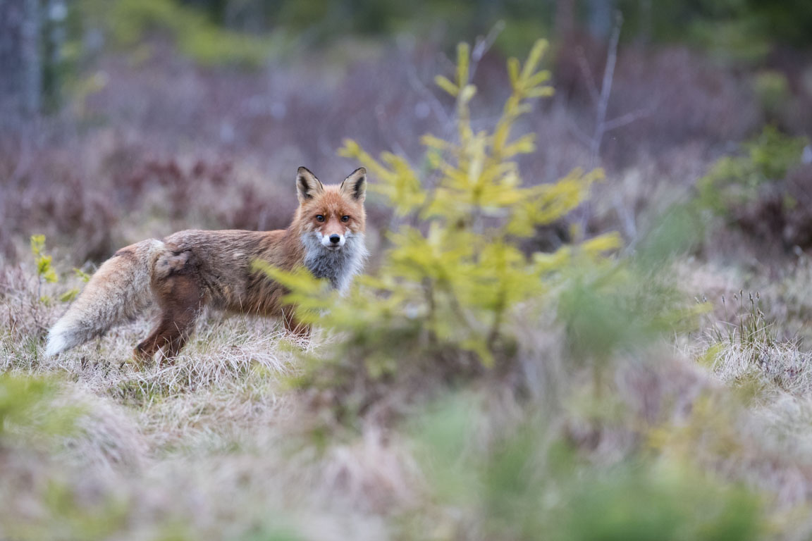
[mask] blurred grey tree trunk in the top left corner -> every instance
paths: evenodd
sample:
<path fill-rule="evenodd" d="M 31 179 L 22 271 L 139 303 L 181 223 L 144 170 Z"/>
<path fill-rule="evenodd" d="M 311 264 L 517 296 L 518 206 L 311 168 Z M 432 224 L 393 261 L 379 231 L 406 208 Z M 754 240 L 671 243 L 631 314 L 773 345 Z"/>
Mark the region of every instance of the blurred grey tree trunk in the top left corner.
<path fill-rule="evenodd" d="M 0 0 L 0 117 L 37 114 L 41 102 L 38 0 Z"/>

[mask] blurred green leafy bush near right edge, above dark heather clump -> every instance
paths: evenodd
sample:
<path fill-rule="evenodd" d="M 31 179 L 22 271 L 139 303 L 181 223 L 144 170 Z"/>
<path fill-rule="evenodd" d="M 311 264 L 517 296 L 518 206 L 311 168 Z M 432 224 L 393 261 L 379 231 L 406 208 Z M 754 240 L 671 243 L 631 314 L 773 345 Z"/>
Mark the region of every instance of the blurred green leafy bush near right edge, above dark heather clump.
<path fill-rule="evenodd" d="M 732 210 L 758 198 L 759 188 L 780 182 L 801 162 L 805 137 L 782 134 L 767 126 L 742 145 L 745 154 L 721 158 L 697 182 L 699 204 L 727 217 Z M 786 202 L 792 204 L 792 202 Z"/>

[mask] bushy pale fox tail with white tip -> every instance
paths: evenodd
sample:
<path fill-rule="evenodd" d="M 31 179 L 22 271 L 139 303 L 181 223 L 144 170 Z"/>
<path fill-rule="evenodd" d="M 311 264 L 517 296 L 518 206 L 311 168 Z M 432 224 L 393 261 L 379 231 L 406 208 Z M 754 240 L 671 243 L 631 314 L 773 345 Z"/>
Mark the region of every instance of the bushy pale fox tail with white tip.
<path fill-rule="evenodd" d="M 102 336 L 148 307 L 152 302 L 153 264 L 163 247 L 159 240 L 145 240 L 122 248 L 106 260 L 50 329 L 45 354 L 55 355 Z"/>

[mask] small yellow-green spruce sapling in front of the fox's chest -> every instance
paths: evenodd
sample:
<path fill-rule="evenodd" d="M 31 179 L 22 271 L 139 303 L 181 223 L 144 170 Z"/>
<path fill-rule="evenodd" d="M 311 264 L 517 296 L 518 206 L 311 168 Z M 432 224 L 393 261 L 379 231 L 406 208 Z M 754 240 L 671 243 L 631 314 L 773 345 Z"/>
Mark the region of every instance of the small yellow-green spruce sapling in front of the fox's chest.
<path fill-rule="evenodd" d="M 346 141 L 339 151 L 367 167 L 376 191 L 395 209 L 400 226 L 375 276 L 361 278 L 344 297 L 326 294 L 308 273 L 283 273 L 259 263 L 291 290 L 301 320 L 343 333 L 335 354 L 311 360 L 296 381 L 308 389 L 333 389 L 342 406 L 364 410 L 387 385 L 406 389 L 429 380 L 456 380 L 506 370 L 516 354 L 512 318 L 517 307 L 538 306 L 552 277 L 573 261 L 600 260 L 620 246 L 615 234 L 592 238 L 553 254 L 526 254 L 520 238 L 558 220 L 587 197 L 601 170 L 577 169 L 558 182 L 525 187 L 516 157 L 533 152 L 533 134 L 515 137 L 516 120 L 534 99 L 550 96 L 550 74 L 539 69 L 546 41 L 523 64 L 508 62 L 511 94 L 495 126 L 475 128 L 468 45 L 457 49 L 452 79 L 440 88 L 456 99 L 456 140 L 425 135 L 425 169 L 404 157 L 370 156 Z M 337 391 L 337 392 L 334 392 Z"/>

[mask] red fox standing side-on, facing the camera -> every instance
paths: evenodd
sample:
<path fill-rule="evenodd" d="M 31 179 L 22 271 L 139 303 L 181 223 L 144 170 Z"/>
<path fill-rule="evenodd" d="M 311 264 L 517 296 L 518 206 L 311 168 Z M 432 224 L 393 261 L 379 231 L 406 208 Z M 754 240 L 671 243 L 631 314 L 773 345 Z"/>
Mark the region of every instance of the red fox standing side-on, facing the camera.
<path fill-rule="evenodd" d="M 45 354 L 55 355 L 102 336 L 121 321 L 158 303 L 158 323 L 134 351 L 141 362 L 158 350 L 167 359 L 184 347 L 205 306 L 259 316 L 280 316 L 285 328 L 308 336 L 282 297 L 283 286 L 252 270 L 254 260 L 291 270 L 300 265 L 345 290 L 361 272 L 366 170 L 340 185 L 324 186 L 304 167 L 296 175 L 299 208 L 287 230 L 201 231 L 132 244 L 98 268 L 76 301 L 50 329 Z"/>

